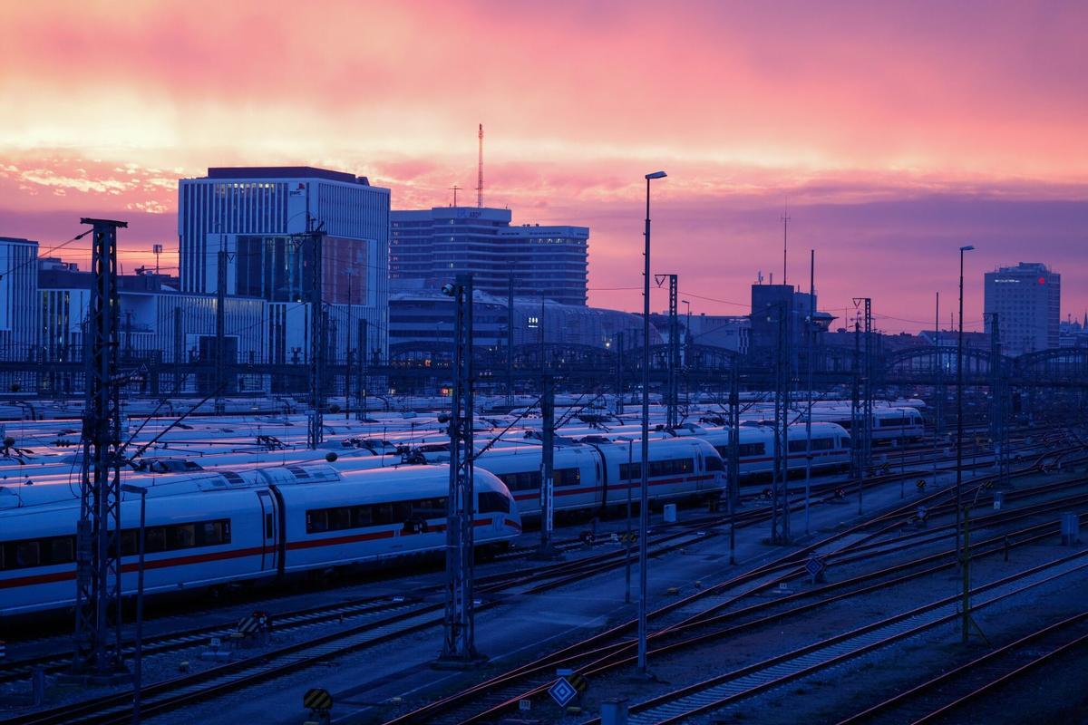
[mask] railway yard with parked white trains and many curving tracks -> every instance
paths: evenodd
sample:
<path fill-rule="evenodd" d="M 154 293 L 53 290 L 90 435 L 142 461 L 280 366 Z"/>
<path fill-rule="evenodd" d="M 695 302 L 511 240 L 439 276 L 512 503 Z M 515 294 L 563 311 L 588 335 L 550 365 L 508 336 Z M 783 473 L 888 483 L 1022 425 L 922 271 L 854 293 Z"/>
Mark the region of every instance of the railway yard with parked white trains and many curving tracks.
<path fill-rule="evenodd" d="M 790 426 L 791 442 L 812 443 L 790 447 L 782 488 L 758 398 L 735 439 L 713 401 L 672 428 L 655 405 L 643 673 L 635 409 L 557 398 L 555 526 L 541 555 L 548 436 L 531 402 L 475 417 L 484 657 L 468 667 L 436 666 L 448 586 L 441 401 L 326 415 L 318 448 L 305 446 L 302 411 L 129 412 L 122 647 L 132 662 L 146 532 L 140 720 L 1011 723 L 1025 702 L 1040 722 L 1088 716 L 1079 425 L 1017 425 L 999 465 L 986 426 L 966 422 L 957 507 L 954 438 L 935 435 L 920 400 L 874 408 L 861 476 L 849 401 L 816 407 L 809 429 Z M 132 722 L 131 679 L 65 677 L 79 424 L 63 407 L 41 411 L 4 426 L 0 724 Z M 789 536 L 772 540 L 782 520 Z M 560 677 L 577 690 L 565 707 Z M 330 708 L 304 707 L 313 688 Z"/>

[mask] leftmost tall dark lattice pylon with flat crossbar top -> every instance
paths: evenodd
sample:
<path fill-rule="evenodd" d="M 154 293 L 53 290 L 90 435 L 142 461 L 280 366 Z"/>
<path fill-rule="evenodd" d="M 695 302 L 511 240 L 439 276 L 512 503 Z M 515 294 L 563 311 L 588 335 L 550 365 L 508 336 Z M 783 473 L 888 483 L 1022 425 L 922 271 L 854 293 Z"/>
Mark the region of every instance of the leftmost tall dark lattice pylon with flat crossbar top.
<path fill-rule="evenodd" d="M 121 651 L 121 396 L 118 228 L 90 224 L 91 288 L 86 365 L 83 467 L 76 524 L 76 620 L 71 675 L 106 682 L 126 676 Z"/>

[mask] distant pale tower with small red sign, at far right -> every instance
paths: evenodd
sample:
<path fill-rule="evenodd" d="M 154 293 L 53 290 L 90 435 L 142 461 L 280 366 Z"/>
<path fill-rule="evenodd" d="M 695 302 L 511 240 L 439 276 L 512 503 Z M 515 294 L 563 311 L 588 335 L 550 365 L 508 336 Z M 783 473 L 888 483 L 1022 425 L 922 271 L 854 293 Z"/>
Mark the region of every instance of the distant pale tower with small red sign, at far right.
<path fill-rule="evenodd" d="M 1016 357 L 1059 347 L 1062 276 L 1046 264 L 1021 262 L 986 273 L 986 330 L 998 316 L 1001 352 Z"/>

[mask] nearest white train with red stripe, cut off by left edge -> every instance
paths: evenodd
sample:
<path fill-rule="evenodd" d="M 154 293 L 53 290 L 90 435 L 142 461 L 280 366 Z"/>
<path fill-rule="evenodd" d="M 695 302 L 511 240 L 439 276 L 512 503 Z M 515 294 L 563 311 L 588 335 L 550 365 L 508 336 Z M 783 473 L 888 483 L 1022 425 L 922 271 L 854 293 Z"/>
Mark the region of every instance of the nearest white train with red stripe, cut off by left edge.
<path fill-rule="evenodd" d="M 288 465 L 159 478 L 149 487 L 148 593 L 410 558 L 446 542 L 447 466 L 336 471 Z M 521 532 L 507 487 L 480 468 L 475 540 Z M 136 591 L 138 496 L 121 504 L 122 590 Z M 0 617 L 75 600 L 78 502 L 0 511 Z"/>

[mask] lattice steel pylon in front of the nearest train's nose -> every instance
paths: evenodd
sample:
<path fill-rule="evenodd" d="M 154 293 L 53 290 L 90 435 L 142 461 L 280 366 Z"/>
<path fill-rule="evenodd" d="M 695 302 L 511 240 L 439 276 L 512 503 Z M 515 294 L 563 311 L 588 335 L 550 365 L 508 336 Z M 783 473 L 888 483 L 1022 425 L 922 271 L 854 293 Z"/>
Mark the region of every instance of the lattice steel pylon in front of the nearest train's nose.
<path fill-rule="evenodd" d="M 454 400 L 449 417 L 449 495 L 446 500 L 446 616 L 438 664 L 472 665 L 475 649 L 472 604 L 474 561 L 472 418 L 472 275 L 457 275 L 443 288 L 454 298 Z"/>

